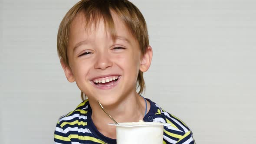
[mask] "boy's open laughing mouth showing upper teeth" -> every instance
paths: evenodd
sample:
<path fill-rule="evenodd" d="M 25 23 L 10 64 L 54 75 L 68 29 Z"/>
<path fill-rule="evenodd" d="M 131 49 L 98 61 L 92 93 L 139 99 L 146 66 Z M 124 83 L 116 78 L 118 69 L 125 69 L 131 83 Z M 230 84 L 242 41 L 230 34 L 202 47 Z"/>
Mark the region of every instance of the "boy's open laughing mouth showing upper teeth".
<path fill-rule="evenodd" d="M 113 75 L 105 78 L 93 79 L 92 82 L 98 88 L 108 89 L 114 87 L 118 83 L 120 77 L 120 75 Z"/>

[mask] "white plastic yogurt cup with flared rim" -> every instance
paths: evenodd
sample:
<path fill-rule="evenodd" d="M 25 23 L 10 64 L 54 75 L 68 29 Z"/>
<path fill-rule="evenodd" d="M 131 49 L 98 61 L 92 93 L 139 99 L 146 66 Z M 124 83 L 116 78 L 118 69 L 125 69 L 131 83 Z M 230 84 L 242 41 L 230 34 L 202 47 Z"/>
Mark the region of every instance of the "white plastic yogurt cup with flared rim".
<path fill-rule="evenodd" d="M 161 122 L 126 122 L 116 126 L 117 144 L 163 144 L 164 125 Z"/>

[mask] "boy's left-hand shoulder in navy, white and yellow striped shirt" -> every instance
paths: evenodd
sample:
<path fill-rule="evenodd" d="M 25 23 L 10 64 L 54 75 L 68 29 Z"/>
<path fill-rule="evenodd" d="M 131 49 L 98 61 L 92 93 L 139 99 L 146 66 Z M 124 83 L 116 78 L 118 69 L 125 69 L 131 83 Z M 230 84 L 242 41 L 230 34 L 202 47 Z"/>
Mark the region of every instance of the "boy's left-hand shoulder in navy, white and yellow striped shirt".
<path fill-rule="evenodd" d="M 54 131 L 56 144 L 71 144 L 78 141 L 82 141 L 82 144 L 102 144 L 102 140 L 92 133 L 90 114 L 89 101 L 85 100 L 74 111 L 61 116 Z"/>

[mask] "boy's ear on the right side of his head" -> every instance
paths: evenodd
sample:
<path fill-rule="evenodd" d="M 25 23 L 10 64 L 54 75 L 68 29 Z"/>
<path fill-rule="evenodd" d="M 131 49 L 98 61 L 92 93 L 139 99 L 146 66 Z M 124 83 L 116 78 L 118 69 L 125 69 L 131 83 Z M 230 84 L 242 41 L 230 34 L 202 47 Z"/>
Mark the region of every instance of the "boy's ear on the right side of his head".
<path fill-rule="evenodd" d="M 151 46 L 148 46 L 146 49 L 146 52 L 143 56 L 141 56 L 141 63 L 140 63 L 140 70 L 141 72 L 146 72 L 149 69 L 149 66 L 151 65 L 152 60 L 152 48 Z"/>

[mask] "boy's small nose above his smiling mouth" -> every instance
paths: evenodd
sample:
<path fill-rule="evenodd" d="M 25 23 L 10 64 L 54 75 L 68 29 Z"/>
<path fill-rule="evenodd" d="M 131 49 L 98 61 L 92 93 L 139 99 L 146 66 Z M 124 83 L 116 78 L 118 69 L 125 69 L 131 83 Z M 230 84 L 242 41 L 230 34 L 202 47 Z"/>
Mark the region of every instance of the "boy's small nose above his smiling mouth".
<path fill-rule="evenodd" d="M 95 69 L 107 69 L 112 66 L 112 62 L 107 53 L 101 53 L 97 56 L 96 62 L 94 64 Z"/>

